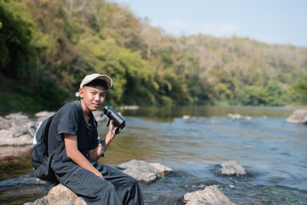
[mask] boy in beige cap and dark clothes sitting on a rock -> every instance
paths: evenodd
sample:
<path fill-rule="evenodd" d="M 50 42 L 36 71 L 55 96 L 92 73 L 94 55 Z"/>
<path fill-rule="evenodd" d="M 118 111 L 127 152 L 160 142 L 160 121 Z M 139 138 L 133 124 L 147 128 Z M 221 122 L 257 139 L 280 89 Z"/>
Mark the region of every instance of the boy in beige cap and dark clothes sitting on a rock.
<path fill-rule="evenodd" d="M 97 122 L 92 114 L 103 104 L 113 87 L 107 75 L 85 76 L 80 84 L 80 101 L 64 105 L 53 117 L 49 129 L 51 154 L 63 141 L 65 148 L 52 161 L 57 179 L 83 197 L 87 204 L 144 204 L 137 181 L 131 176 L 97 162 L 115 137 L 109 132 L 98 143 Z"/>

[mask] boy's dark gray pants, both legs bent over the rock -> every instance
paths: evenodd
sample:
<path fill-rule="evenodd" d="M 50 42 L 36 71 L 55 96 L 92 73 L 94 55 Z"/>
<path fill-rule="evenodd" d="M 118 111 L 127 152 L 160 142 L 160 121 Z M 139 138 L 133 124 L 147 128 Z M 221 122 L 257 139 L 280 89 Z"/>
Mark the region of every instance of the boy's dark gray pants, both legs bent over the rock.
<path fill-rule="evenodd" d="M 142 193 L 134 178 L 99 162 L 95 162 L 93 166 L 100 171 L 104 179 L 82 168 L 65 184 L 77 195 L 82 196 L 87 204 L 144 204 Z"/>

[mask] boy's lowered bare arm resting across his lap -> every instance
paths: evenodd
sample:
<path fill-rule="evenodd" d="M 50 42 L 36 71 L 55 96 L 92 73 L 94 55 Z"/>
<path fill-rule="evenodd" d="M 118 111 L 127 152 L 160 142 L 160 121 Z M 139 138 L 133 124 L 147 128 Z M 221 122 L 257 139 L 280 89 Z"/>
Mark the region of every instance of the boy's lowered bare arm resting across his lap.
<path fill-rule="evenodd" d="M 102 174 L 87 161 L 87 159 L 78 150 L 77 136 L 64 133 L 64 142 L 67 156 L 80 167 L 87 169 L 103 179 Z M 101 150 L 101 149 L 100 149 Z"/>

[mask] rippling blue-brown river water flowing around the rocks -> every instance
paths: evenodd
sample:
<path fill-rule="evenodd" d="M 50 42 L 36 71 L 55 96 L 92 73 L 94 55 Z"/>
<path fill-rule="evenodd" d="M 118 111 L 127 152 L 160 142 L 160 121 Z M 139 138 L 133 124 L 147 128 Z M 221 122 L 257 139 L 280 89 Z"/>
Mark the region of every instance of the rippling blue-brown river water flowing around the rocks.
<path fill-rule="evenodd" d="M 165 107 L 122 111 L 126 127 L 100 162 L 159 162 L 174 173 L 139 182 L 145 204 L 180 204 L 186 192 L 217 185 L 236 204 L 307 204 L 307 126 L 286 123 L 294 109 Z M 228 113 L 251 116 L 232 120 Z M 190 115 L 189 120 L 182 116 Z M 105 125 L 99 126 L 106 134 Z M 0 148 L 1 149 L 1 148 Z M 238 160 L 247 176 L 222 176 L 220 164 Z M 31 173 L 31 153 L 0 160 L 0 180 Z M 22 204 L 50 185 L 0 186 L 1 204 Z"/>

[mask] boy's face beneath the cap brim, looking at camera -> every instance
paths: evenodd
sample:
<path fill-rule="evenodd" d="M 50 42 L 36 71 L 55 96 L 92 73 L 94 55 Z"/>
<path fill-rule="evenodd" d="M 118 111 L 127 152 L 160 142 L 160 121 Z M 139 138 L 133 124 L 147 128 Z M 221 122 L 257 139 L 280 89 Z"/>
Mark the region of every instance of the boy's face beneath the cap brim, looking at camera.
<path fill-rule="evenodd" d="M 103 104 L 106 90 L 103 87 L 84 86 L 79 93 L 85 107 L 89 111 L 97 111 Z"/>

